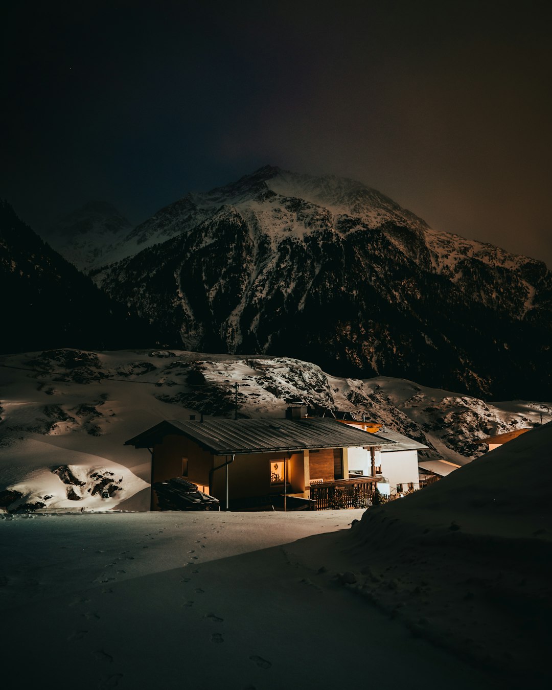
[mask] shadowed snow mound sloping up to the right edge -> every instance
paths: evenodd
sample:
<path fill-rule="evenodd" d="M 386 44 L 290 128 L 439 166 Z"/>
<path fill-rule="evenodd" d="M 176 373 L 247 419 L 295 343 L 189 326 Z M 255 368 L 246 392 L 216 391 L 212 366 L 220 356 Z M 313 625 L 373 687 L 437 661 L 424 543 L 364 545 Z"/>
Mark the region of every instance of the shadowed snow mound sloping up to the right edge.
<path fill-rule="evenodd" d="M 424 491 L 369 509 L 350 535 L 359 594 L 414 635 L 544 687 L 552 613 L 552 424 Z"/>

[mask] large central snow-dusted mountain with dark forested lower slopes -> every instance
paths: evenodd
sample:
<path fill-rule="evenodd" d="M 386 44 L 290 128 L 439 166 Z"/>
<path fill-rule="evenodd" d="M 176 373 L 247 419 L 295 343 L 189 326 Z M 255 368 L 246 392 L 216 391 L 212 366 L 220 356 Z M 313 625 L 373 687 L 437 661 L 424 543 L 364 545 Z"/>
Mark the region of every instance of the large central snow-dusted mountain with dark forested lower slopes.
<path fill-rule="evenodd" d="M 122 258 L 125 257 L 125 258 Z M 552 274 L 359 182 L 266 166 L 161 209 L 95 281 L 186 349 L 484 397 L 552 395 Z"/>

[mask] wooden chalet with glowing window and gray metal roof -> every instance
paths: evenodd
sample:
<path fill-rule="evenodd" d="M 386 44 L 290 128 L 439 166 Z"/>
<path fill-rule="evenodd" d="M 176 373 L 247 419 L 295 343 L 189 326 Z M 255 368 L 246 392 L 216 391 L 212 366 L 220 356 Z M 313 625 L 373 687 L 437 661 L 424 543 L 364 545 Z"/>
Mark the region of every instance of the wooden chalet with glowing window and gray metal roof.
<path fill-rule="evenodd" d="M 319 488 L 328 488 L 324 494 L 328 505 L 322 507 L 333 505 L 336 491 L 351 495 L 351 500 L 355 491 L 346 489 L 356 486 L 357 493 L 373 491 L 378 479 L 369 470 L 351 478 L 349 452 L 355 451 L 356 467 L 359 449 L 368 457 L 395 442 L 335 419 L 301 414 L 300 408 L 291 408 L 282 420 L 166 421 L 125 445 L 148 449 L 152 484 L 186 477 L 226 508 L 253 506 L 266 497 L 282 495 L 308 502 L 311 485 L 317 487 L 318 495 Z M 152 492 L 152 509 L 156 507 Z"/>

